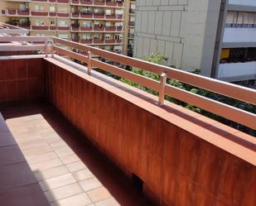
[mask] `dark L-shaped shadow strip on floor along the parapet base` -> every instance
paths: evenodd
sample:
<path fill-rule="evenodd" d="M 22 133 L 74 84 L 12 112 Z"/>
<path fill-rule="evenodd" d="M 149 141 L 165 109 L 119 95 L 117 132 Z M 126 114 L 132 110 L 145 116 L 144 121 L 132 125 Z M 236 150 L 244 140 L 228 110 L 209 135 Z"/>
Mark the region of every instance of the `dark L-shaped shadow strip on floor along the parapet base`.
<path fill-rule="evenodd" d="M 88 169 L 122 206 L 149 206 L 122 171 L 92 145 L 50 103 L 31 103 L 2 108 L 5 119 L 41 114 L 62 140 L 80 157 Z"/>

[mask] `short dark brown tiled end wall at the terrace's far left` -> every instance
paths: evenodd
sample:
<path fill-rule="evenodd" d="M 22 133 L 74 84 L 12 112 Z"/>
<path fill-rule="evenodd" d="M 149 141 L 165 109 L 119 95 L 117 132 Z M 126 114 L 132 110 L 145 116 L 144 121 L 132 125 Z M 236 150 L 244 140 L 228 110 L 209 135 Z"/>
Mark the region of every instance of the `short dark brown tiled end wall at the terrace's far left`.
<path fill-rule="evenodd" d="M 43 60 L 0 60 L 0 104 L 43 96 Z"/>

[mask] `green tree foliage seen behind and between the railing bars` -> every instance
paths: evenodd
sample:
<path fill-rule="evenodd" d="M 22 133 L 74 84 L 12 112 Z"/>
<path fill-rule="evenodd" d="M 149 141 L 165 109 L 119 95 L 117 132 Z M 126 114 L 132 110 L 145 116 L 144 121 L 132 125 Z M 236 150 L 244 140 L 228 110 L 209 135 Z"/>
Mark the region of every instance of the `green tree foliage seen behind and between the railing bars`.
<path fill-rule="evenodd" d="M 161 53 L 153 53 L 152 55 L 147 55 L 144 59 L 149 61 L 149 62 L 158 64 L 158 65 L 162 65 L 167 61 L 167 57 L 165 55 L 162 55 Z M 171 67 L 174 67 L 174 66 L 171 66 Z M 154 74 L 154 73 L 146 71 L 146 70 L 133 68 L 132 72 L 135 73 L 135 74 L 140 74 L 140 75 L 145 76 L 145 77 L 150 78 L 150 79 L 154 79 L 154 80 L 157 80 L 157 81 L 160 80 L 160 75 L 159 74 Z M 196 69 L 193 73 L 199 74 L 200 70 Z M 123 83 L 129 84 L 133 87 L 136 87 L 138 89 L 142 89 L 144 91 L 147 91 L 148 93 L 158 95 L 157 91 L 155 91 L 153 89 L 149 89 L 147 87 L 144 87 L 140 84 L 134 83 L 134 82 L 132 82 L 128 79 L 121 78 L 120 81 L 122 81 Z M 180 82 L 176 79 L 167 79 L 167 84 L 170 84 L 171 86 L 174 86 L 174 87 L 179 88 L 179 89 L 184 89 L 184 90 L 189 91 L 191 93 L 199 94 L 199 95 L 204 96 L 206 98 L 214 99 L 214 100 L 219 101 L 221 103 L 229 104 L 233 107 L 243 109 L 243 110 L 248 111 L 250 113 L 256 113 L 256 108 L 252 104 L 244 103 L 244 102 L 241 102 L 241 101 L 236 100 L 234 98 L 227 98 L 223 95 L 220 95 L 218 93 L 212 93 L 212 92 L 207 91 L 205 89 L 196 88 L 196 87 L 191 86 L 189 84 L 184 84 L 184 83 L 182 83 L 182 82 Z M 232 122 L 228 119 L 225 119 L 224 117 L 220 117 L 220 116 L 217 116 L 213 113 L 209 113 L 209 112 L 207 112 L 207 111 L 205 111 L 201 108 L 197 108 L 197 107 L 195 107 L 191 104 L 184 103 L 184 102 L 182 102 L 182 101 L 180 101 L 176 98 L 172 98 L 171 96 L 166 96 L 165 99 L 170 101 L 171 103 L 176 103 L 178 105 L 181 105 L 182 107 L 191 109 L 192 111 L 194 111 L 196 113 L 200 113 L 202 115 L 205 115 L 206 117 L 213 118 L 216 121 L 223 122 L 226 125 L 229 125 L 230 127 L 234 127 L 234 128 L 236 128 L 240 131 L 247 132 L 250 135 L 253 135 L 253 136 L 256 137 L 256 131 L 254 131 L 254 130 L 248 128 L 248 127 L 244 127 L 243 125 L 240 125 L 236 122 Z"/>

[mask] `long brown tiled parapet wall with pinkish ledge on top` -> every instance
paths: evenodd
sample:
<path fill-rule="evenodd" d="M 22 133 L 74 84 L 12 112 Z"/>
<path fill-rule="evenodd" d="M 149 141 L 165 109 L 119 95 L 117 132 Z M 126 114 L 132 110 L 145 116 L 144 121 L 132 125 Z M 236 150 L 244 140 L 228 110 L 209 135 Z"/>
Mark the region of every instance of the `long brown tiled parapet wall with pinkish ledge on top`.
<path fill-rule="evenodd" d="M 96 74 L 92 75 L 48 59 L 46 95 L 126 174 L 138 175 L 144 182 L 144 193 L 158 205 L 255 205 L 256 170 L 255 159 L 252 159 L 255 158 L 255 141 L 252 137 L 248 136 L 249 141 L 246 141 L 238 132 L 233 137 L 237 141 L 234 143 L 230 141 L 229 132 L 237 131 L 221 125 L 219 127 L 225 131 L 214 129 L 211 124 L 218 122 L 199 114 L 192 117 L 189 111 L 184 116 L 191 118 L 184 118 L 180 126 L 176 126 L 178 117 L 171 119 L 174 112 L 158 115 L 159 107 L 148 103 L 149 98 L 131 95 L 128 86 L 123 86 L 126 91 L 122 92 L 106 83 L 107 78 L 100 80 L 94 78 Z M 136 89 L 132 90 L 137 93 Z M 170 111 L 184 111 L 184 108 L 169 105 Z M 203 119 L 205 124 L 192 127 L 193 118 L 198 118 L 197 122 Z M 206 125 L 209 130 L 205 129 Z M 225 136 L 229 139 L 225 140 Z M 216 146 L 218 143 L 220 146 Z M 239 158 L 247 152 L 252 154 L 248 160 Z"/>

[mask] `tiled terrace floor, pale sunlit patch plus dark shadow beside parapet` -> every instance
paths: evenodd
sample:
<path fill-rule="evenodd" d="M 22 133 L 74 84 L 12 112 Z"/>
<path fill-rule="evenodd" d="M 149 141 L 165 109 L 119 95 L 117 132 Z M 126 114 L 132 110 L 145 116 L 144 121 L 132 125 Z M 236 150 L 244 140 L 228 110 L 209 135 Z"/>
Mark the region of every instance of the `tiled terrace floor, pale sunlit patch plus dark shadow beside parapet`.
<path fill-rule="evenodd" d="M 52 206 L 150 205 L 51 105 L 1 113 Z"/>

